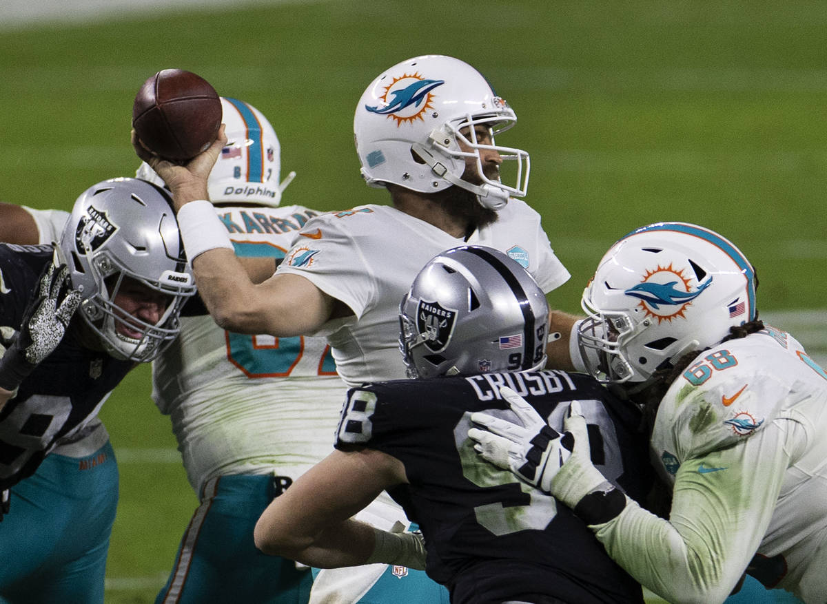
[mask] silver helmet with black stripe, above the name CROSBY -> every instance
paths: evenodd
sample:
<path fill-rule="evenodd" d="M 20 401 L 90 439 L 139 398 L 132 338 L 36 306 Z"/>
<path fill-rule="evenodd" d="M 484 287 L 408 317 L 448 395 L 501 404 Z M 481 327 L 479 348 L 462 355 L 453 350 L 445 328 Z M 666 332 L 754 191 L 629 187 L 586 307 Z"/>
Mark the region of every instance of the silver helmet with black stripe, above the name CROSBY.
<path fill-rule="evenodd" d="M 548 304 L 507 254 L 465 245 L 434 257 L 399 305 L 409 378 L 530 371 L 546 364 Z"/>

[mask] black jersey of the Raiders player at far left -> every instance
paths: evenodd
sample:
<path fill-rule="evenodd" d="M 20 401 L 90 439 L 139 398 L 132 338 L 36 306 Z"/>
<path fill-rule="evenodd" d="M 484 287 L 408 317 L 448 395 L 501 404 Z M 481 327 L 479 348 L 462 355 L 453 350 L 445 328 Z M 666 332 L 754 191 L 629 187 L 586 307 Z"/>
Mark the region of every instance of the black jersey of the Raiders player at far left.
<path fill-rule="evenodd" d="M 0 326 L 20 328 L 51 257 L 50 245 L 0 244 Z M 85 426 L 135 366 L 82 346 L 80 321 L 74 316 L 60 345 L 0 411 L 0 490 L 31 476 L 57 440 Z"/>

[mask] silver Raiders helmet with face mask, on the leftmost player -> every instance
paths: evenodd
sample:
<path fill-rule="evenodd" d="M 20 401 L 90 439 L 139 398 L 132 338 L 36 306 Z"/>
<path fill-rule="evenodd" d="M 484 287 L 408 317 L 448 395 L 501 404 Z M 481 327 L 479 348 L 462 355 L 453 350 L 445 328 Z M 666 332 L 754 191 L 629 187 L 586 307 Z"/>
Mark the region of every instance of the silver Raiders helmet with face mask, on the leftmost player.
<path fill-rule="evenodd" d="M 81 293 L 79 314 L 108 354 L 151 361 L 178 335 L 184 299 L 196 289 L 164 188 L 137 178 L 93 185 L 74 202 L 58 248 L 69 266 L 72 288 Z M 155 325 L 115 304 L 125 278 L 169 300 Z M 118 324 L 140 331 L 141 337 L 122 335 Z"/>

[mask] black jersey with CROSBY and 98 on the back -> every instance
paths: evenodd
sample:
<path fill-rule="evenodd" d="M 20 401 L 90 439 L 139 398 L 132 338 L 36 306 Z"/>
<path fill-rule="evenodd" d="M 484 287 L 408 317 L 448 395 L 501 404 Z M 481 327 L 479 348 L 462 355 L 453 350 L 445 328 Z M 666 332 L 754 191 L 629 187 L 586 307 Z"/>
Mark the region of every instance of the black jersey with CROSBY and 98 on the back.
<path fill-rule="evenodd" d="M 589 425 L 591 458 L 641 500 L 651 481 L 638 416 L 582 374 L 485 373 L 353 388 L 337 448 L 365 445 L 399 459 L 409 484 L 391 489 L 427 549 L 427 572 L 454 604 L 556 597 L 564 602 L 643 602 L 642 590 L 584 522 L 554 497 L 481 459 L 467 436 L 474 411 L 517 421 L 499 387 L 523 396 L 562 431 L 571 400 Z"/>

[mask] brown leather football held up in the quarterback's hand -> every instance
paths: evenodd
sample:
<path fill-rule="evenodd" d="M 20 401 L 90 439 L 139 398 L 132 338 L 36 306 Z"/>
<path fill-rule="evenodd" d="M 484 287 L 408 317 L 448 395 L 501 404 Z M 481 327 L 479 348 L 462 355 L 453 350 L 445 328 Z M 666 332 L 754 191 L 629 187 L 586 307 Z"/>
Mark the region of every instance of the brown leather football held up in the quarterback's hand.
<path fill-rule="evenodd" d="M 155 155 L 175 162 L 207 149 L 221 126 L 221 99 L 198 74 L 162 69 L 148 78 L 132 104 L 132 128 Z"/>

